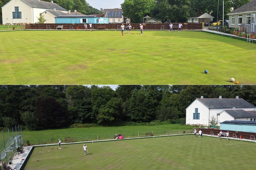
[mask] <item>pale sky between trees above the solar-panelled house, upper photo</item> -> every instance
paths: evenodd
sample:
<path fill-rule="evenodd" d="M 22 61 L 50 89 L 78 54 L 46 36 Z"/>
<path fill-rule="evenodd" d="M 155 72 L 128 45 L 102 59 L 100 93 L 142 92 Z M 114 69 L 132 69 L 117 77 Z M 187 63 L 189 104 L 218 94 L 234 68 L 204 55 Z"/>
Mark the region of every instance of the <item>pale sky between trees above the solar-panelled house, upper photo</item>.
<path fill-rule="evenodd" d="M 113 9 L 113 8 L 121 8 L 121 3 L 124 3 L 125 0 L 85 0 L 89 3 L 90 6 L 100 10 L 100 8 L 104 9 Z"/>

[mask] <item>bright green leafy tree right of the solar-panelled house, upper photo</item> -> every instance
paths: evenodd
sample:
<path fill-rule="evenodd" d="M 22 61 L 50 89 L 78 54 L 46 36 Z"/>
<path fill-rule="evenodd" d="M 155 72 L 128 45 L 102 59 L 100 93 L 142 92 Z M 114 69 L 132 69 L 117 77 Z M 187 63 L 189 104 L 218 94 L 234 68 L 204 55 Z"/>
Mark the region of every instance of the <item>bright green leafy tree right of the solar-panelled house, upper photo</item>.
<path fill-rule="evenodd" d="M 137 23 L 141 22 L 146 15 L 152 15 L 155 6 L 155 0 L 125 0 L 121 4 L 123 15 Z"/>

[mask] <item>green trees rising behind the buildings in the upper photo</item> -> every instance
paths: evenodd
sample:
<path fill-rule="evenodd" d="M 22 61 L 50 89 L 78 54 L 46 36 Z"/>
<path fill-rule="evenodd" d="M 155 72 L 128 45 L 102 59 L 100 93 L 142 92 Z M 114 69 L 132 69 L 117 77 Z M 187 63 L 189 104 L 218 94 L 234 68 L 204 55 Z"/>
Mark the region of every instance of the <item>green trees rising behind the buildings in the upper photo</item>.
<path fill-rule="evenodd" d="M 0 0 L 3 6 L 10 0 Z M 50 2 L 51 0 L 45 0 Z M 236 9 L 250 0 L 224 0 L 224 19 L 231 9 Z M 102 14 L 103 9 L 92 7 L 86 0 L 53 0 L 54 3 L 66 10 L 77 10 L 85 15 Z M 111 1 L 110 1 L 111 3 Z M 223 18 L 223 1 L 221 0 L 125 0 L 121 4 L 123 15 L 134 23 L 140 23 L 146 15 L 162 21 L 185 22 L 186 19 L 196 16 L 197 13 L 211 14 L 214 19 Z M 0 8 L 2 18 L 2 8 Z"/>

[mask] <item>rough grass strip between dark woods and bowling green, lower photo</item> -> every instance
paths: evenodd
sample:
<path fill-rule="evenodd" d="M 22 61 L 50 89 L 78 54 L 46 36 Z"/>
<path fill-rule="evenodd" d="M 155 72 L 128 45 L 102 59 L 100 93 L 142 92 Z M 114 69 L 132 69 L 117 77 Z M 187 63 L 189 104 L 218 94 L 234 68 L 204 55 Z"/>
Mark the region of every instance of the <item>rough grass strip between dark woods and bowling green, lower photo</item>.
<path fill-rule="evenodd" d="M 163 124 L 154 126 L 110 126 L 92 128 L 69 128 L 43 131 L 22 131 L 23 140 L 29 140 L 31 145 L 58 143 L 58 139 L 65 142 L 65 137 L 71 137 L 74 141 L 113 139 L 115 133 L 122 133 L 124 137 L 141 137 L 146 132 L 154 135 L 170 135 L 190 133 L 193 126 L 179 124 Z M 5 136 L 8 136 L 7 134 Z"/>

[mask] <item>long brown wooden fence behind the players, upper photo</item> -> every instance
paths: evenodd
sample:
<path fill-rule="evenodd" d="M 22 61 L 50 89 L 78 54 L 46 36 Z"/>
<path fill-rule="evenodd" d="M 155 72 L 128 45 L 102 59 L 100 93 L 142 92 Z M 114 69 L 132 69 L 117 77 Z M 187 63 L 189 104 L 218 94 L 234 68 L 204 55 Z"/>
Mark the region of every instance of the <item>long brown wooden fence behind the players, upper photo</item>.
<path fill-rule="evenodd" d="M 170 23 L 147 23 L 145 24 L 143 30 L 170 30 L 169 28 Z M 173 24 L 173 30 L 178 30 L 179 23 L 172 23 Z M 84 24 L 83 23 L 30 23 L 26 24 L 26 29 L 32 29 L 32 30 L 46 30 L 48 29 L 55 30 L 56 27 L 59 25 L 63 26 L 64 30 L 69 30 L 70 26 L 74 28 L 74 30 L 84 30 Z M 120 23 L 109 23 L 109 24 L 92 24 L 93 28 L 96 30 L 98 26 L 105 26 L 107 30 L 118 30 L 120 29 L 121 24 Z M 128 27 L 129 24 L 124 24 L 125 27 Z M 87 24 L 89 29 L 89 24 Z M 132 23 L 132 30 L 140 30 L 140 24 L 139 23 Z M 72 28 L 71 27 L 71 28 Z M 126 28 L 127 29 L 127 28 Z M 202 23 L 183 23 L 182 30 L 202 30 Z"/>

